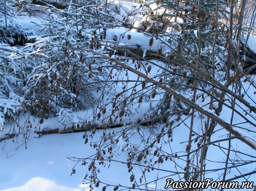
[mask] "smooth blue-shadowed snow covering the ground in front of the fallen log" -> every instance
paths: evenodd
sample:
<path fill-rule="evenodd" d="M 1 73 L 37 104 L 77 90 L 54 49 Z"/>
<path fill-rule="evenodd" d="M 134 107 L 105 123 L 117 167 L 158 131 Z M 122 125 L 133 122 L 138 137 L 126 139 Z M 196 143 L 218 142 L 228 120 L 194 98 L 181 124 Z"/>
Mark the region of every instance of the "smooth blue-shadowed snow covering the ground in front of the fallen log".
<path fill-rule="evenodd" d="M 244 84 L 245 88 L 250 87 L 250 83 Z M 199 92 L 200 93 L 200 92 Z M 250 93 L 250 89 L 249 89 Z M 251 92 L 252 93 L 252 92 Z M 245 99 L 249 100 L 246 96 Z M 199 100 L 200 101 L 200 100 Z M 207 101 L 207 98 L 206 98 Z M 205 102 L 206 102 L 205 101 Z M 147 109 L 144 108 L 146 111 Z M 143 111 L 142 111 L 143 113 Z M 224 120 L 229 120 L 231 112 L 226 107 L 223 108 L 221 118 Z M 22 116 L 20 117 L 22 119 Z M 173 116 L 175 119 L 175 116 Z M 185 151 L 186 141 L 188 139 L 189 129 L 186 124 L 190 123 L 190 117 L 183 115 L 181 116 L 181 120 L 184 120 L 184 123 L 181 123 L 180 126 L 175 127 L 173 129 L 173 141 L 165 144 L 163 143 L 162 150 L 169 153 L 170 155 L 174 155 L 177 153 L 178 156 L 183 155 L 184 153 L 181 151 Z M 201 126 L 204 124 L 206 117 L 199 115 L 196 113 L 196 118 L 194 121 L 194 131 L 200 132 Z M 239 116 L 234 117 L 233 123 L 240 123 L 242 119 Z M 178 122 L 175 122 L 174 125 L 177 125 Z M 57 122 L 57 117 L 46 120 L 43 123 L 44 127 L 60 127 L 61 125 Z M 164 125 L 164 124 L 163 124 Z M 163 126 L 163 125 L 160 125 Z M 129 126 L 126 126 L 129 127 Z M 241 125 L 241 127 L 243 127 Z M 7 132 L 9 129 L 9 125 L 4 127 L 4 131 Z M 43 128 L 43 127 L 42 127 Z M 112 131 L 122 132 L 125 127 L 118 127 L 115 129 L 109 129 L 108 131 L 112 133 Z M 142 129 L 143 128 L 143 129 Z M 250 127 L 245 127 L 250 129 Z M 220 126 L 216 127 L 216 133 L 213 134 L 211 140 L 220 140 L 227 138 L 228 132 L 221 128 Z M 89 156 L 93 156 L 95 154 L 95 149 L 90 146 L 90 142 L 97 142 L 102 139 L 102 131 L 98 130 L 96 134 L 93 136 L 93 139 L 89 137 L 89 141 L 87 144 L 84 144 L 83 134 L 84 132 L 79 133 L 66 133 L 66 134 L 48 134 L 38 137 L 38 134 L 30 133 L 29 140 L 27 141 L 27 149 L 25 149 L 25 145 L 21 145 L 23 137 L 20 134 L 19 138 L 8 139 L 6 141 L 0 142 L 0 189 L 6 191 L 53 191 L 53 190 L 70 190 L 70 191 L 89 191 L 89 184 L 87 180 L 83 180 L 85 174 L 88 173 L 88 164 L 85 166 L 81 165 L 81 161 L 76 164 L 76 161 L 69 160 L 67 157 L 72 158 L 88 158 Z M 157 134 L 157 129 L 155 130 Z M 160 130 L 158 130 L 160 131 Z M 131 137 L 129 138 L 129 142 L 137 143 L 138 150 L 143 149 L 143 143 L 140 143 L 141 137 L 136 129 L 130 130 Z M 246 132 L 243 130 L 243 132 Z M 88 132 L 87 132 L 88 133 Z M 153 136 L 150 128 L 141 127 L 140 133 L 144 135 L 144 138 Z M 90 134 L 90 133 L 89 133 Z M 255 139 L 255 137 L 253 137 Z M 168 140 L 168 139 L 165 139 Z M 246 146 L 244 143 L 237 139 L 233 139 L 231 141 L 232 149 L 243 151 L 243 153 L 255 156 L 255 150 Z M 122 185 L 131 187 L 129 176 L 130 173 L 127 172 L 127 152 L 123 150 L 120 152 L 122 148 L 125 148 L 126 143 L 124 140 L 120 140 L 119 143 L 114 147 L 114 157 L 113 160 L 123 161 L 123 163 L 114 162 L 111 163 L 104 161 L 105 167 L 98 166 L 100 169 L 100 173 L 98 173 L 99 180 L 102 183 L 99 184 L 99 188 L 95 188 L 95 190 L 101 190 L 104 186 L 104 183 L 108 183 L 110 185 Z M 222 148 L 227 148 L 228 142 L 221 141 L 220 146 Z M 153 148 L 154 149 L 154 148 Z M 196 143 L 192 145 L 191 149 L 196 149 Z M 246 156 L 235 154 L 231 152 L 230 160 L 233 163 L 243 163 L 241 158 L 243 157 L 243 161 L 252 161 L 250 164 L 246 164 L 244 166 L 240 166 L 237 168 L 230 168 L 227 173 L 226 179 L 233 178 L 240 174 L 249 173 L 255 170 L 255 162 L 253 162 L 253 158 Z M 147 178 L 148 187 L 154 190 L 155 188 L 164 190 L 165 179 L 166 178 L 174 178 L 177 179 L 177 175 L 174 175 L 175 172 L 184 172 L 178 166 L 184 166 L 185 161 L 184 157 L 173 157 L 172 161 L 164 161 L 163 164 L 157 164 L 154 168 L 159 168 L 161 170 L 150 171 L 150 173 L 145 174 L 145 178 Z M 157 158 L 154 158 L 157 160 Z M 154 161 L 153 160 L 153 161 Z M 206 168 L 207 169 L 217 169 L 223 168 L 226 160 L 226 151 L 222 150 L 218 147 L 218 145 L 210 145 L 209 150 L 207 152 L 207 161 Z M 240 161 L 240 162 L 239 162 Z M 89 161 L 88 161 L 89 162 Z M 110 164 L 110 165 L 109 165 Z M 232 164 L 230 164 L 232 166 Z M 75 167 L 75 174 L 72 174 L 72 169 Z M 140 177 L 142 172 L 140 168 L 134 167 L 133 173 L 135 177 Z M 214 180 L 219 180 L 221 177 L 221 173 L 223 170 L 219 171 L 209 171 L 205 174 L 205 178 L 213 178 Z M 154 180 L 159 178 L 157 182 Z M 256 174 L 252 174 L 250 176 L 246 176 L 249 181 L 256 180 Z M 219 180 L 220 181 L 220 180 Z M 241 184 L 242 181 L 245 181 L 243 178 L 237 179 Z M 112 190 L 114 186 L 107 187 L 107 190 Z M 145 188 L 145 187 L 142 187 Z M 246 190 L 246 189 L 244 189 Z M 249 189 L 247 189 L 249 190 Z"/>

